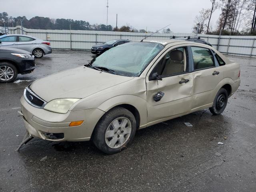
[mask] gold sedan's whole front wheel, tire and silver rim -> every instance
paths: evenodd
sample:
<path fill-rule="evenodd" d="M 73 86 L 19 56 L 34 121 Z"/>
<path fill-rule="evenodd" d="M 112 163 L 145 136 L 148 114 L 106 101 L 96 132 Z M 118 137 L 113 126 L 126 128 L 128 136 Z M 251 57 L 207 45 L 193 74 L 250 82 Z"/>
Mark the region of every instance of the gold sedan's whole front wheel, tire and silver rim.
<path fill-rule="evenodd" d="M 107 112 L 96 125 L 92 140 L 104 153 L 114 154 L 130 144 L 136 132 L 136 119 L 127 109 L 116 107 Z"/>

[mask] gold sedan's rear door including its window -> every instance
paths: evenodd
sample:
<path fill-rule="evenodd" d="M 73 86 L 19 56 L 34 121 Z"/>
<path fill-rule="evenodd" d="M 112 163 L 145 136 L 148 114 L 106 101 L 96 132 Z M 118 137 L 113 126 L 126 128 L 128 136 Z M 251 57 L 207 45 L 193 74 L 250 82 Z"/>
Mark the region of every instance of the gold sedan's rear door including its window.
<path fill-rule="evenodd" d="M 194 78 L 193 110 L 212 102 L 212 90 L 222 80 L 223 74 L 218 70 L 218 62 L 216 62 L 210 49 L 191 46 L 190 53 L 194 62 L 192 65 Z"/>

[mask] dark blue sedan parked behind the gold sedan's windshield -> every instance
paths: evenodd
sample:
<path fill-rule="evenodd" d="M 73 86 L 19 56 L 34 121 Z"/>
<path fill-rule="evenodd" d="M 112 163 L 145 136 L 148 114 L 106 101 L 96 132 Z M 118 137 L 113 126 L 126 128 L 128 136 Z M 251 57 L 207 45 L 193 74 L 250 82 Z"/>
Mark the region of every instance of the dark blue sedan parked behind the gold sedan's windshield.
<path fill-rule="evenodd" d="M 121 44 L 124 44 L 124 43 L 128 43 L 128 42 L 131 42 L 130 40 L 126 39 L 113 39 L 113 40 L 110 40 L 104 44 L 98 44 L 98 45 L 94 45 L 92 46 L 92 49 L 91 49 L 91 52 L 93 54 L 96 54 L 96 55 L 100 55 L 102 53 L 104 53 L 105 51 L 115 47 L 115 46 L 118 46 L 118 45 L 121 45 Z"/>

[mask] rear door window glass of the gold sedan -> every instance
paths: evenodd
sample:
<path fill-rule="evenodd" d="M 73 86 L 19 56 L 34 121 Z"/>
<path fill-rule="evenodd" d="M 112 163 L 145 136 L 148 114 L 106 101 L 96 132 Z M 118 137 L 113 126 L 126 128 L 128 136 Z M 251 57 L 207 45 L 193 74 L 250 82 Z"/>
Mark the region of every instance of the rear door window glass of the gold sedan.
<path fill-rule="evenodd" d="M 202 47 L 191 47 L 191 49 L 194 60 L 194 70 L 215 66 L 214 57 L 209 49 Z"/>

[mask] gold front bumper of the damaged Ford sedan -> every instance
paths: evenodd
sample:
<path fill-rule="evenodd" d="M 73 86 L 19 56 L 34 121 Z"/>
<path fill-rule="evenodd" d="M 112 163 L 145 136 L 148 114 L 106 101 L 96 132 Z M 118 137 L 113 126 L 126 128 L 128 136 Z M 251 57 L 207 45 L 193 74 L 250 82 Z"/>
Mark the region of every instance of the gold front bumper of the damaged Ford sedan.
<path fill-rule="evenodd" d="M 33 137 L 51 141 L 87 141 L 90 140 L 96 123 L 104 114 L 99 109 L 68 111 L 58 114 L 31 106 L 24 96 L 20 99 L 22 110 L 20 114 L 29 134 Z M 84 122 L 80 126 L 69 127 L 70 122 Z M 49 134 L 62 135 L 59 138 L 49 138 Z"/>

